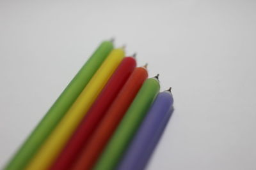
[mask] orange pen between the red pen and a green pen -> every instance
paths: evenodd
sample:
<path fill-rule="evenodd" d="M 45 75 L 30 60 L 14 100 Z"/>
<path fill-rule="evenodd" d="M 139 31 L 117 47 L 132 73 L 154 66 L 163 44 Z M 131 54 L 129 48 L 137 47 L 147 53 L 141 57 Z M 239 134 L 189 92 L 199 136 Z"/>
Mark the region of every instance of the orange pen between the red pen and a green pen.
<path fill-rule="evenodd" d="M 82 149 L 72 169 L 92 169 L 93 164 L 95 164 L 104 146 L 108 143 L 109 138 L 120 120 L 122 120 L 147 76 L 148 73 L 145 67 L 134 69 L 124 87 L 116 96 L 115 101 L 109 107 L 106 115 L 102 118 L 92 138 L 88 141 L 86 147 Z"/>

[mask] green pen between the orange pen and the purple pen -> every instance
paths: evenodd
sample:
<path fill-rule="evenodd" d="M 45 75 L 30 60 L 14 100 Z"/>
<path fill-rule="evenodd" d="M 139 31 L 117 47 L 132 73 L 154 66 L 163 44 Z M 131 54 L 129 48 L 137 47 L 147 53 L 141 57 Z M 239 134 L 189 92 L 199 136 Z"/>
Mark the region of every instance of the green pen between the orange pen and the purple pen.
<path fill-rule="evenodd" d="M 124 118 L 118 125 L 94 169 L 115 169 L 132 137 L 136 133 L 160 86 L 157 78 L 148 78 L 141 87 Z"/>

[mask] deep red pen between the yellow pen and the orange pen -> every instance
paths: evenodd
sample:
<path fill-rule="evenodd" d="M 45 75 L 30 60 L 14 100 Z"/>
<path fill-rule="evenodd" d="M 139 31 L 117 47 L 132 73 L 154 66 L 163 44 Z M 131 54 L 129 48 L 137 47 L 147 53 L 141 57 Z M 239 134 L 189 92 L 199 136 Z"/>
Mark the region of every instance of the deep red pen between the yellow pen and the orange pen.
<path fill-rule="evenodd" d="M 79 151 L 86 145 L 86 142 L 90 139 L 104 113 L 106 113 L 106 110 L 108 110 L 108 107 L 120 89 L 122 89 L 135 67 L 136 60 L 134 57 L 125 57 L 122 60 L 120 66 L 118 66 L 113 76 L 111 76 L 106 87 L 104 87 L 51 169 L 70 168 Z"/>

